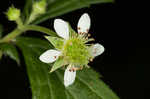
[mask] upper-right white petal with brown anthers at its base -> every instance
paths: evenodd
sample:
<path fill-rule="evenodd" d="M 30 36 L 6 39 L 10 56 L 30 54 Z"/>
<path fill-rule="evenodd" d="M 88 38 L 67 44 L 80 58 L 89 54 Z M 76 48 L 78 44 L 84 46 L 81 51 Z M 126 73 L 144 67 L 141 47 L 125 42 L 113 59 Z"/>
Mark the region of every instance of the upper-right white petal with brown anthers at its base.
<path fill-rule="evenodd" d="M 90 17 L 87 13 L 83 14 L 78 22 L 78 33 L 88 33 L 91 25 Z"/>

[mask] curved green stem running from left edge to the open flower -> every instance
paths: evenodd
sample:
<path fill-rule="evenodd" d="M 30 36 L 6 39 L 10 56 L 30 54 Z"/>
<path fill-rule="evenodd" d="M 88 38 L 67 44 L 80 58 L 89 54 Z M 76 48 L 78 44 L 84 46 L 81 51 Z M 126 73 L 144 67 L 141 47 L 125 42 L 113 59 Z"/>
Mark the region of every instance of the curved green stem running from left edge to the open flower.
<path fill-rule="evenodd" d="M 8 35 L 6 35 L 4 38 L 0 39 L 0 43 L 9 42 L 16 38 L 17 36 L 21 35 L 23 32 L 33 30 L 38 32 L 43 32 L 51 36 L 57 36 L 55 32 L 51 31 L 48 28 L 37 26 L 37 25 L 26 25 L 21 28 L 16 28 L 12 32 L 10 32 Z"/>

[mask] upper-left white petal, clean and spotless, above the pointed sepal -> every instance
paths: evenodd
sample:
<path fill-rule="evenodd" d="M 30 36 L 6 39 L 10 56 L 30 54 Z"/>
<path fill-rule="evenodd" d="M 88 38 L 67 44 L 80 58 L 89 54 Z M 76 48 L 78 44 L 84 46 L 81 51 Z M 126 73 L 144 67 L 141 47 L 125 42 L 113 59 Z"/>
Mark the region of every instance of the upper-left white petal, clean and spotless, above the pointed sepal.
<path fill-rule="evenodd" d="M 67 22 L 63 21 L 62 19 L 55 19 L 54 29 L 60 37 L 64 39 L 69 38 L 69 27 Z"/>

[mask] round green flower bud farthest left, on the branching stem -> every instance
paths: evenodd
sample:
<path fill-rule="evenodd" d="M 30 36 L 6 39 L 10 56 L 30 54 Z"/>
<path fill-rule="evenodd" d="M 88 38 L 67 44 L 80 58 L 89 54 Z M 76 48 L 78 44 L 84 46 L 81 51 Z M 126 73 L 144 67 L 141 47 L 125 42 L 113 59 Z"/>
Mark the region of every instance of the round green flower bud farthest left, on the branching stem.
<path fill-rule="evenodd" d="M 9 7 L 8 11 L 6 12 L 8 20 L 16 21 L 20 17 L 20 9 L 15 7 Z"/>

